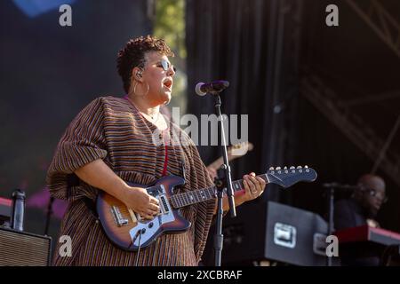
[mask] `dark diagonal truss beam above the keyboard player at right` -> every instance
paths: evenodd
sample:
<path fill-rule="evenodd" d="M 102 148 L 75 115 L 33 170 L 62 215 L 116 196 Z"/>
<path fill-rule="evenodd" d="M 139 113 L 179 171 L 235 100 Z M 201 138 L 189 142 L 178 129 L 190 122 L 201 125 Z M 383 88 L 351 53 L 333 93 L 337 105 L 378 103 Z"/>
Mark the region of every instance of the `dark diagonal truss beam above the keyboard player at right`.
<path fill-rule="evenodd" d="M 399 154 L 388 152 L 388 141 L 379 138 L 360 116 L 351 113 L 348 106 L 340 104 L 339 97 L 321 78 L 316 75 L 303 77 L 300 93 L 374 162 L 373 170 L 379 167 L 400 186 Z"/>

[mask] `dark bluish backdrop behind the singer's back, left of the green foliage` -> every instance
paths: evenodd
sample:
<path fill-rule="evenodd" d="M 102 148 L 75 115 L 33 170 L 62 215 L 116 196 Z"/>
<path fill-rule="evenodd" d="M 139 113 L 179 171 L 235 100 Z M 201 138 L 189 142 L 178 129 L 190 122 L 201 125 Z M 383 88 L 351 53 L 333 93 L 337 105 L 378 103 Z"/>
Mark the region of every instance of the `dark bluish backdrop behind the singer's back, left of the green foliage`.
<path fill-rule="evenodd" d="M 29 201 L 43 191 L 53 151 L 72 118 L 96 97 L 124 94 L 117 51 L 152 31 L 146 0 L 77 0 L 71 7 L 72 27 L 62 28 L 58 7 L 29 18 L 12 1 L 0 2 L 1 196 L 19 187 Z M 28 208 L 28 232 L 44 233 L 42 207 Z M 53 218 L 53 237 L 58 224 Z"/>

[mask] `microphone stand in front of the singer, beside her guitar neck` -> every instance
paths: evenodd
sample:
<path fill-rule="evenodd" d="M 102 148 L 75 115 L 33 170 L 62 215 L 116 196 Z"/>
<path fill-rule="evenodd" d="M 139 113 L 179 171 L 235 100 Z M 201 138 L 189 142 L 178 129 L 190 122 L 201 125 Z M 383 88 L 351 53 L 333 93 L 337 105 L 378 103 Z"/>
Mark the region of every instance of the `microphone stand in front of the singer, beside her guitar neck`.
<path fill-rule="evenodd" d="M 215 185 L 217 186 L 217 220 L 216 220 L 216 230 L 214 235 L 214 250 L 215 250 L 215 266 L 220 266 L 221 262 L 221 254 L 222 254 L 222 246 L 224 241 L 224 235 L 222 234 L 222 217 L 223 217 L 223 208 L 222 208 L 222 200 L 223 200 L 223 190 L 227 188 L 227 195 L 229 201 L 229 211 L 231 217 L 236 217 L 236 208 L 235 208 L 235 198 L 233 194 L 232 187 L 232 177 L 230 175 L 230 167 L 228 162 L 228 150 L 227 150 L 227 140 L 225 138 L 225 130 L 223 124 L 223 116 L 220 112 L 220 91 L 212 92 L 211 94 L 215 99 L 215 113 L 218 116 L 219 120 L 219 129 L 221 133 L 221 146 L 222 146 L 222 157 L 224 159 L 224 164 L 220 167 L 219 177 L 215 178 Z"/>

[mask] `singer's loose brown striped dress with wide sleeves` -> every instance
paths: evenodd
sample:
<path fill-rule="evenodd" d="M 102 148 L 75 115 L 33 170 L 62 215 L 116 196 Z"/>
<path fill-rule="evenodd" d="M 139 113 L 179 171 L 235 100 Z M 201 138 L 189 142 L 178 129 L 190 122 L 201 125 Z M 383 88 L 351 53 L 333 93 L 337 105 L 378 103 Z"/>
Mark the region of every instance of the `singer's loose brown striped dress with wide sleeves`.
<path fill-rule="evenodd" d="M 173 143 L 155 143 L 156 126 L 129 103 L 115 97 L 94 99 L 77 114 L 60 139 L 47 173 L 53 197 L 68 200 L 68 210 L 60 236 L 72 240 L 72 256 L 60 256 L 60 243 L 54 250 L 54 265 L 197 265 L 204 251 L 212 224 L 214 201 L 204 201 L 181 210 L 191 222 L 185 233 L 164 234 L 148 248 L 136 253 L 116 248 L 102 232 L 87 202 L 95 201 L 99 189 L 79 180 L 74 171 L 97 159 L 125 181 L 149 185 L 162 177 L 165 152 L 167 174 L 185 178 L 178 193 L 212 185 L 196 146 L 188 135 L 170 123 L 165 130 Z M 164 139 L 163 139 L 164 141 Z M 181 145 L 179 145 L 181 141 Z M 183 143 L 184 142 L 184 143 Z M 178 144 L 178 145 L 177 145 Z M 74 182 L 74 177 L 78 182 Z"/>

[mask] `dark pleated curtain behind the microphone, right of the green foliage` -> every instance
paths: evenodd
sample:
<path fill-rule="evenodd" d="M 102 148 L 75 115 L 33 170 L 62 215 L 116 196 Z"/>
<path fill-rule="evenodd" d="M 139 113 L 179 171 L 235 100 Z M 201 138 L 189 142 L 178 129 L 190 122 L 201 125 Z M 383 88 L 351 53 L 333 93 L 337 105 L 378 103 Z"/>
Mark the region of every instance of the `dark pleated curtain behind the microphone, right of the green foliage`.
<path fill-rule="evenodd" d="M 293 16 L 298 16 L 295 6 Z M 284 23 L 292 26 L 293 21 L 282 13 L 284 9 L 281 1 L 187 1 L 188 113 L 212 114 L 213 99 L 196 96 L 193 88 L 197 82 L 223 79 L 230 85 L 221 94 L 222 112 L 248 114 L 248 138 L 254 150 L 231 163 L 234 179 L 296 162 L 292 151 L 284 152 L 292 135 L 284 129 L 293 117 L 287 109 L 297 92 L 298 78 L 298 46 L 292 32 L 284 33 Z M 199 151 L 206 164 L 220 156 L 217 146 L 199 146 Z M 280 190 L 269 185 L 263 197 L 242 209 L 252 210 L 267 199 L 279 201 Z M 262 230 L 257 219 L 243 222 L 253 222 Z M 204 264 L 212 264 L 213 230 Z"/>

